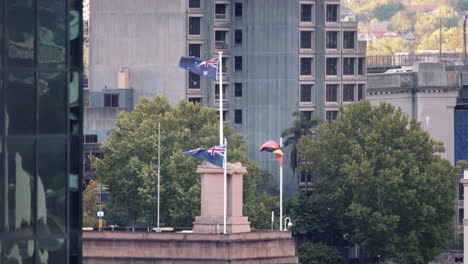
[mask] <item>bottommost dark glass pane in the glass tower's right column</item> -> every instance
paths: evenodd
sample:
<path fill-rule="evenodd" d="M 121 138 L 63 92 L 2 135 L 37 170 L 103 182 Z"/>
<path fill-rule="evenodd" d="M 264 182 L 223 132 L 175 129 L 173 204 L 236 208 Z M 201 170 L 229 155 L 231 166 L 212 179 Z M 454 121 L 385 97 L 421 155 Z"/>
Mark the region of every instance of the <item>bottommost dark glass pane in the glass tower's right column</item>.
<path fill-rule="evenodd" d="M 37 243 L 38 259 L 41 264 L 67 263 L 66 243 L 63 238 L 40 239 Z"/>

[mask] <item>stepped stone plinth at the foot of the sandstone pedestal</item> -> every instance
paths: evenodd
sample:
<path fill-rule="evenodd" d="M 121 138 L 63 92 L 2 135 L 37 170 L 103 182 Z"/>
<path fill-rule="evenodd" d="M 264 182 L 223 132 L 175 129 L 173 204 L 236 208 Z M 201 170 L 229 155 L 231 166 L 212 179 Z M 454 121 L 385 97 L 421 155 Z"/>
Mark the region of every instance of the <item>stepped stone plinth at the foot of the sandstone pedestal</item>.
<path fill-rule="evenodd" d="M 223 233 L 223 217 L 197 216 L 193 223 L 194 233 Z M 228 234 L 250 232 L 250 222 L 247 216 L 228 216 L 226 218 Z"/>

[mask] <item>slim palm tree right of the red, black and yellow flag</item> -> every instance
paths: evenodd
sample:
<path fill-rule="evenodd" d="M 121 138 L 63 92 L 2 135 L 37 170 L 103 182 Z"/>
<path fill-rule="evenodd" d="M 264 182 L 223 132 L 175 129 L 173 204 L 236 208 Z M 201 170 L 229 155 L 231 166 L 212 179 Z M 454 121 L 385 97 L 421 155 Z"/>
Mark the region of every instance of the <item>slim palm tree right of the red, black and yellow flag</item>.
<path fill-rule="evenodd" d="M 289 156 L 290 166 L 293 172 L 295 172 L 298 165 L 296 144 L 302 136 L 312 135 L 312 133 L 314 133 L 314 129 L 319 124 L 319 120 L 309 120 L 301 111 L 294 112 L 293 117 L 295 117 L 295 120 L 292 127 L 284 130 L 281 136 L 284 138 L 283 145 L 285 147 L 291 146 L 291 152 Z"/>

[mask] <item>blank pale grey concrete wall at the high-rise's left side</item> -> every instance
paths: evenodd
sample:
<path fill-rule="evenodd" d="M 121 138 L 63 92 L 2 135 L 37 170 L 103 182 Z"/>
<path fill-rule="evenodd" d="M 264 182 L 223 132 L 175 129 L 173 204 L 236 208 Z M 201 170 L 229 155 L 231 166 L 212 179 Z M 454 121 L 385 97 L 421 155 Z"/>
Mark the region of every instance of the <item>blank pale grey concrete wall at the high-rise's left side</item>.
<path fill-rule="evenodd" d="M 185 98 L 188 1 L 91 1 L 90 91 L 117 88 L 117 73 L 130 68 L 130 85 L 140 96 L 166 95 L 171 103 Z"/>

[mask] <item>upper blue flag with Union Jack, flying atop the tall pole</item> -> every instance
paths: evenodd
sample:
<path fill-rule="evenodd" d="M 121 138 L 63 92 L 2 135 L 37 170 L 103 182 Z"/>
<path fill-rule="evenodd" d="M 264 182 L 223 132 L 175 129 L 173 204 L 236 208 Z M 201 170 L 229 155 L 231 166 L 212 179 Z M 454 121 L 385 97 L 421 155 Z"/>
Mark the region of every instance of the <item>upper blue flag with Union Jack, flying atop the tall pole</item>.
<path fill-rule="evenodd" d="M 193 56 L 182 57 L 179 61 L 179 67 L 208 79 L 216 80 L 218 73 L 218 62 L 218 58 L 204 61 Z"/>

